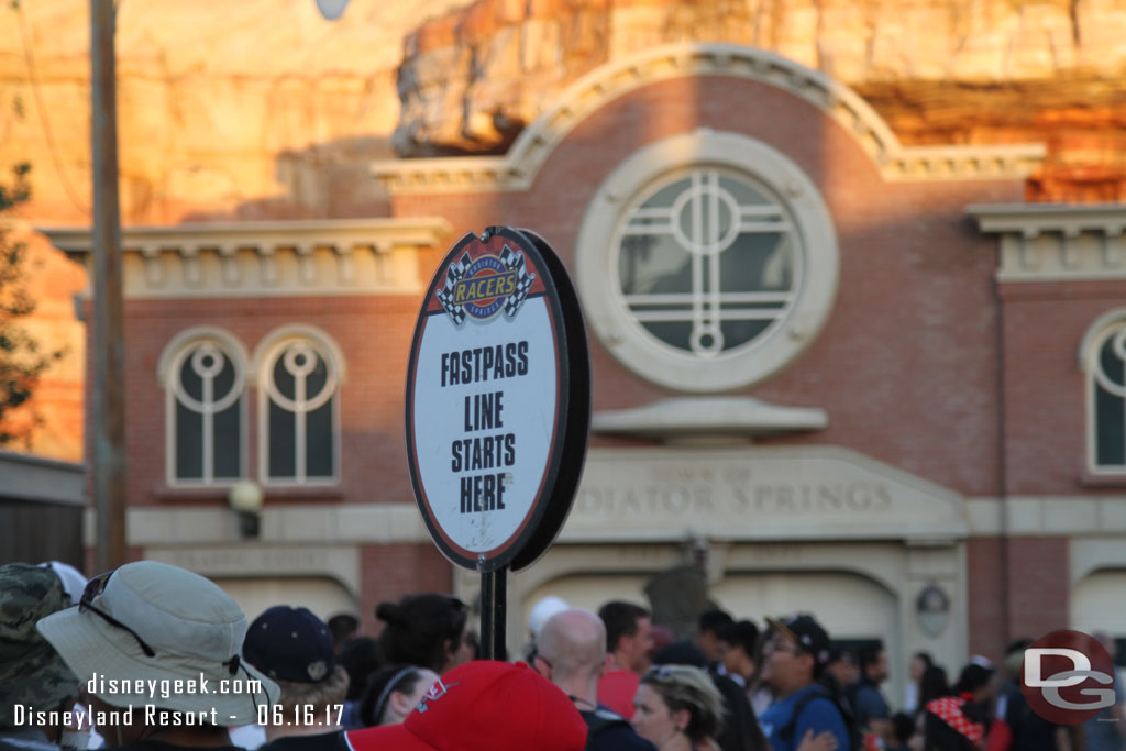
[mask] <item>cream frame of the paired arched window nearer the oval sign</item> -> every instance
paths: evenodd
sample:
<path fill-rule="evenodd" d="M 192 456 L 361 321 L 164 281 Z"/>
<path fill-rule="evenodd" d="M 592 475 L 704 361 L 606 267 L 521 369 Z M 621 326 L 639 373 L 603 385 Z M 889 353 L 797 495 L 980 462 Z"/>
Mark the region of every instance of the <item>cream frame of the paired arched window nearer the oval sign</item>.
<path fill-rule="evenodd" d="M 269 474 L 270 441 L 268 433 L 270 395 L 274 392 L 272 369 L 279 354 L 294 342 L 305 341 L 324 359 L 329 369 L 327 400 L 332 400 L 332 475 L 329 477 L 309 477 L 304 472 L 304 454 L 302 447 L 301 415 L 310 411 L 295 411 L 297 435 L 294 446 L 297 450 L 294 457 L 295 474 L 293 477 L 274 477 Z M 254 372 L 258 385 L 258 476 L 263 485 L 269 486 L 309 486 L 336 485 L 340 483 L 340 394 L 345 383 L 345 359 L 340 347 L 328 333 L 315 327 L 292 325 L 271 331 L 254 350 Z M 313 409 L 316 409 L 315 406 Z"/>

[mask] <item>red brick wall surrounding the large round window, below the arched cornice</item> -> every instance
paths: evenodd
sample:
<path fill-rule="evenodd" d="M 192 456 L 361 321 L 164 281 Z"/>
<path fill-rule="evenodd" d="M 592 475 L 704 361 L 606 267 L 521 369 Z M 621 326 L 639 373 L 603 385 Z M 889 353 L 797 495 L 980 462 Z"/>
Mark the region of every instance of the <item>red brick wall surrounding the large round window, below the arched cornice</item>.
<path fill-rule="evenodd" d="M 792 367 L 742 393 L 829 412 L 826 430 L 784 440 L 849 446 L 966 494 L 995 494 L 997 242 L 965 207 L 1019 199 L 1017 180 L 885 184 L 851 136 L 807 102 L 701 77 L 607 104 L 554 150 L 527 194 L 399 196 L 394 213 L 440 214 L 457 234 L 528 226 L 573 265 L 591 191 L 640 146 L 699 126 L 747 133 L 795 161 L 819 184 L 840 247 L 825 329 Z M 598 342 L 592 349 L 596 410 L 669 395 Z"/>

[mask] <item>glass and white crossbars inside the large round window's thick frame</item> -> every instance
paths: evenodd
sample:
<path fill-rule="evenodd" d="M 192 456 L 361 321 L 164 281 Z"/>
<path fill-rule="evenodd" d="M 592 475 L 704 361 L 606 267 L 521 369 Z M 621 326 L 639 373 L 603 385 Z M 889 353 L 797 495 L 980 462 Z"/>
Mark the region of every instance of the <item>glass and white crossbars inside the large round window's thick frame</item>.
<path fill-rule="evenodd" d="M 699 358 L 753 346 L 801 286 L 794 222 L 758 181 L 692 169 L 626 209 L 613 249 L 625 309 L 660 345 Z"/>

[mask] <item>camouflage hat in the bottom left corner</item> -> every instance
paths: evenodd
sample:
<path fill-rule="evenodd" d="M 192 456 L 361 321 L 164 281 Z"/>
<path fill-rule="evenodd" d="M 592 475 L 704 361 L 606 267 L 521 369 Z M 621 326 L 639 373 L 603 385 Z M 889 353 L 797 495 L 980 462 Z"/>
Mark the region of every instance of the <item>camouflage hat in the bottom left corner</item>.
<path fill-rule="evenodd" d="M 17 704 L 54 709 L 78 697 L 78 678 L 35 628 L 68 607 L 70 597 L 50 569 L 0 566 L 0 727 L 12 726 Z"/>

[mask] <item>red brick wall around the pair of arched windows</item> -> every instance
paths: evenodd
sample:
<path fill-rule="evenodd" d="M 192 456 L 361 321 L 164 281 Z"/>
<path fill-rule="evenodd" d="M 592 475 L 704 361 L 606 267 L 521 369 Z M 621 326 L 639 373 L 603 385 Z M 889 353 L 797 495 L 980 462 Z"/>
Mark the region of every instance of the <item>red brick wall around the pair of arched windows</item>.
<path fill-rule="evenodd" d="M 225 493 L 164 491 L 166 392 L 157 363 L 168 342 L 197 325 L 227 330 L 254 348 L 279 327 L 301 323 L 323 330 L 345 354 L 347 378 L 340 390 L 342 482 L 339 488 L 272 492 L 267 501 L 411 501 L 405 472 L 402 394 L 418 301 L 409 297 L 251 298 L 133 301 L 126 305 L 126 390 L 129 503 L 170 500 L 225 502 Z M 249 476 L 258 479 L 258 392 L 249 392 Z"/>

